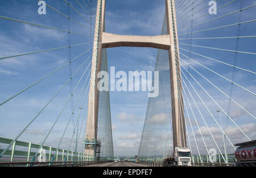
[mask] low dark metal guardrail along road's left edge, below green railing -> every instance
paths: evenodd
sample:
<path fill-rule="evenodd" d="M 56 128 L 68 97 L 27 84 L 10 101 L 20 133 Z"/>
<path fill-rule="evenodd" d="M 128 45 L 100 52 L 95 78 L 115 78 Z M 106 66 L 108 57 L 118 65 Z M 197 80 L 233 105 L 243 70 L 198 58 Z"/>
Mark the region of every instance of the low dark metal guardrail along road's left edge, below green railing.
<path fill-rule="evenodd" d="M 106 162 L 0 162 L 0 167 L 84 167 Z"/>

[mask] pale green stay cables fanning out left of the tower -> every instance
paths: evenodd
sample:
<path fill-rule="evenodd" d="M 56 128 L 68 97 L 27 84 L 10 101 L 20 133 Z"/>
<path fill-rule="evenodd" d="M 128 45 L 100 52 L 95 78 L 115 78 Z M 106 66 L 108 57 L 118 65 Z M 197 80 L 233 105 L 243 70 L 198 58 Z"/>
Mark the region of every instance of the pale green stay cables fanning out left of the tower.
<path fill-rule="evenodd" d="M 58 52 L 60 50 L 68 50 L 68 57 L 67 61 L 66 59 L 63 59 L 64 64 L 61 64 L 59 67 L 54 69 L 53 71 L 49 72 L 48 74 L 44 74 L 42 78 L 39 78 L 35 82 L 32 82 L 32 84 L 28 84 L 28 86 L 24 87 L 22 90 L 19 92 L 14 93 L 12 96 L 1 99 L 2 101 L 0 102 L 1 107 L 8 106 L 10 102 L 15 102 L 16 100 L 19 100 L 20 96 L 23 96 L 24 94 L 27 94 L 31 92 L 32 90 L 36 89 L 36 86 L 40 86 L 42 82 L 48 82 L 50 80 L 55 80 L 51 79 L 56 76 L 56 74 L 61 74 L 65 70 L 67 70 L 67 73 L 69 73 L 68 78 L 65 78 L 66 76 L 63 75 L 61 78 L 64 79 L 65 82 L 59 86 L 59 89 L 53 94 L 49 100 L 46 102 L 46 104 L 43 104 L 42 108 L 38 108 L 39 112 L 36 113 L 34 116 L 32 116 L 31 120 L 26 124 L 25 127 L 23 128 L 15 128 L 20 130 L 20 132 L 14 137 L 13 141 L 10 142 L 9 144 L 5 145 L 5 148 L 1 150 L 0 152 L 0 159 L 6 155 L 6 152 L 9 151 L 11 146 L 15 145 L 15 142 L 24 134 L 26 134 L 26 131 L 32 127 L 32 125 L 35 124 L 35 122 L 42 122 L 42 115 L 46 114 L 49 112 L 50 109 L 49 105 L 52 105 L 53 102 L 56 102 L 57 100 L 60 99 L 60 97 L 63 95 L 63 93 L 66 93 L 68 84 L 69 84 L 69 93 L 68 97 L 64 97 L 63 101 L 63 106 L 60 106 L 59 114 L 55 115 L 50 115 L 49 117 L 51 118 L 51 122 L 49 123 L 49 126 L 47 128 L 47 133 L 43 135 L 42 140 L 36 140 L 36 142 L 40 143 L 39 147 L 39 152 L 36 153 L 34 156 L 30 158 L 31 161 L 35 161 L 36 158 L 39 156 L 41 157 L 43 152 L 42 149 L 45 147 L 45 145 L 48 145 L 51 141 L 50 139 L 55 139 L 55 143 L 52 144 L 53 147 L 57 147 L 55 150 L 55 153 L 50 154 L 51 151 L 48 151 L 49 155 L 49 160 L 52 161 L 59 161 L 61 160 L 59 156 L 59 150 L 60 147 L 64 147 L 68 149 L 68 152 L 65 155 L 65 158 L 62 158 L 62 160 L 70 160 L 70 154 L 71 151 L 75 153 L 75 156 L 72 154 L 73 160 L 85 160 L 85 155 L 84 157 L 80 155 L 77 155 L 77 153 L 84 152 L 84 148 L 80 149 L 80 145 L 82 146 L 82 141 L 84 138 L 81 138 L 81 132 L 82 130 L 86 129 L 85 125 L 85 115 L 87 113 L 87 105 L 88 105 L 88 94 L 89 94 L 89 84 L 90 84 L 90 71 L 91 71 L 91 59 L 92 59 L 92 53 L 93 53 L 93 42 L 92 42 L 92 30 L 94 29 L 94 20 L 96 19 L 96 5 L 95 2 L 91 0 L 82 0 L 82 1 L 74 1 L 70 3 L 69 1 L 65 1 L 67 3 L 65 7 L 68 9 L 67 15 L 61 10 L 58 10 L 60 7 L 54 7 L 53 5 L 48 5 L 47 10 L 51 10 L 51 13 L 55 13 L 55 15 L 59 14 L 63 16 L 67 21 L 66 24 L 67 30 L 64 28 L 59 28 L 59 27 L 54 27 L 55 22 L 51 21 L 52 19 L 49 19 L 52 26 L 50 25 L 43 25 L 40 23 L 32 23 L 27 20 L 22 20 L 22 19 L 16 19 L 16 18 L 10 18 L 7 16 L 0 15 L 0 19 L 2 19 L 2 22 L 0 23 L 10 23 L 16 25 L 18 24 L 27 24 L 28 26 L 36 26 L 37 28 L 42 28 L 42 29 L 48 29 L 50 31 L 59 31 L 59 32 L 67 32 L 67 46 L 61 46 L 61 47 L 55 47 L 55 48 L 49 48 L 47 45 L 50 44 L 44 44 L 46 49 L 43 50 L 38 50 L 38 51 L 32 51 L 32 52 L 23 52 L 23 53 L 18 53 L 18 54 L 13 54 L 9 56 L 1 56 L 0 60 L 5 62 L 7 60 L 20 60 L 20 58 L 23 56 L 23 59 L 26 59 L 26 57 L 30 55 L 38 55 L 38 58 L 40 57 L 39 55 L 44 55 L 44 53 L 49 53 L 49 52 Z M 75 3 L 76 2 L 76 3 Z M 80 11 L 85 12 L 86 14 L 81 14 Z M 77 16 L 79 15 L 79 16 Z M 81 19 L 82 18 L 82 19 Z M 94 20 L 93 20 L 94 19 Z M 5 20 L 5 21 L 4 21 Z M 34 21 L 33 19 L 30 19 L 31 21 Z M 78 24 L 80 27 L 84 28 L 83 32 L 75 32 L 71 30 L 71 27 L 73 23 Z M 65 24 L 63 24 L 65 26 Z M 77 28 L 74 28 L 77 29 Z M 80 43 L 75 43 L 72 44 L 72 42 L 75 42 L 77 39 L 77 36 L 79 36 Z M 83 50 L 82 52 L 81 49 Z M 75 55 L 74 57 L 72 57 Z M 55 55 L 56 56 L 56 55 Z M 52 60 L 54 57 L 52 57 Z M 75 69 L 75 70 L 74 70 Z M 85 77 L 86 76 L 86 77 Z M 59 78 L 60 80 L 60 78 Z M 61 81 L 61 80 L 60 80 Z M 82 83 L 82 85 L 81 85 Z M 75 84 L 75 87 L 73 87 L 73 84 Z M 47 85 L 51 86 L 51 85 Z M 55 89 L 52 89 L 53 91 Z M 39 92 L 39 91 L 38 91 Z M 44 91 L 40 91 L 44 92 Z M 19 97 L 18 97 L 19 96 Z M 67 94 L 66 94 L 67 96 Z M 86 102 L 87 101 L 87 102 Z M 66 120 L 66 114 L 69 113 L 68 110 L 68 105 L 71 105 L 71 115 L 67 119 L 67 123 L 63 126 L 62 123 L 64 123 Z M 57 111 L 57 110 L 56 110 Z M 58 111 L 57 111 L 58 112 Z M 83 113 L 83 115 L 82 115 Z M 82 121 L 81 121 L 82 117 Z M 24 121 L 26 122 L 26 121 Z M 73 122 L 73 125 L 71 125 L 71 122 Z M 55 138 L 57 135 L 54 134 L 56 131 L 55 129 L 62 128 L 62 134 L 60 134 L 60 138 Z M 66 139 L 66 137 L 69 139 L 68 144 L 63 143 L 63 141 Z M 75 139 L 74 139 L 75 138 Z M 66 142 L 66 141 L 65 141 Z M 57 145 L 56 145 L 57 144 Z"/>

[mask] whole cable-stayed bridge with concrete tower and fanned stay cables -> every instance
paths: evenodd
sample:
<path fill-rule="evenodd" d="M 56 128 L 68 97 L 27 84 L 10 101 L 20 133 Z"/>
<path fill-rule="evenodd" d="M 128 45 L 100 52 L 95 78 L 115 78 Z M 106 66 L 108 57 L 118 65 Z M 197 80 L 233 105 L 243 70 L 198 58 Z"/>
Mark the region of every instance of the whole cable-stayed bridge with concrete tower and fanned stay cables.
<path fill-rule="evenodd" d="M 158 49 L 158 95 L 148 98 L 139 160 L 162 163 L 188 147 L 193 163 L 234 163 L 234 144 L 255 140 L 254 1 L 163 1 L 156 36 L 106 32 L 106 5 L 114 1 L 45 2 L 35 0 L 34 19 L 29 11 L 0 14 L 3 165 L 114 160 L 110 87 L 101 82 L 113 47 Z M 17 68 L 27 80 L 14 80 Z"/>

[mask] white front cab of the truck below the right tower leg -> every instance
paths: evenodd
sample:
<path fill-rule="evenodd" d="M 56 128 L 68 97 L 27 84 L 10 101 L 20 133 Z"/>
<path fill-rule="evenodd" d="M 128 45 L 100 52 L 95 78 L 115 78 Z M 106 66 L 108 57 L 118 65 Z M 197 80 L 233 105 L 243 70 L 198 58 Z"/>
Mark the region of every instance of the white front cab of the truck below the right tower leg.
<path fill-rule="evenodd" d="M 187 147 L 175 147 L 175 163 L 177 165 L 191 166 L 191 152 Z"/>

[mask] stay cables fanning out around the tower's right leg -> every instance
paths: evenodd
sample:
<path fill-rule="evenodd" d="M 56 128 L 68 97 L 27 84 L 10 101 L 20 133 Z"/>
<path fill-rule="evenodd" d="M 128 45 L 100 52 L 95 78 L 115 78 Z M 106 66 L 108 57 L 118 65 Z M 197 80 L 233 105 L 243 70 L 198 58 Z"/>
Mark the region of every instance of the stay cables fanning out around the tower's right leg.
<path fill-rule="evenodd" d="M 255 128 L 256 113 L 246 102 L 255 103 L 252 81 L 256 74 L 256 51 L 251 47 L 255 43 L 255 32 L 251 29 L 256 24 L 255 18 L 250 14 L 255 11 L 256 5 L 249 1 L 216 1 L 217 14 L 210 14 L 208 3 L 199 0 L 175 1 L 174 15 L 178 32 L 175 59 L 180 59 L 180 64 L 177 63 L 176 67 L 180 69 L 177 73 L 181 75 L 181 78 L 178 75 L 179 87 L 183 88 L 179 94 L 184 97 L 184 106 L 180 107 L 185 113 L 187 146 L 191 149 L 192 161 L 216 162 L 211 155 L 214 149 L 215 154 L 219 154 L 220 162 L 229 163 L 233 161 L 229 154 L 234 153 L 234 144 L 255 139 L 252 137 L 255 130 L 246 129 L 246 126 Z M 166 27 L 163 26 L 162 34 L 166 34 L 163 33 L 164 28 Z M 168 66 L 168 55 L 164 53 L 166 52 L 159 50 L 156 67 L 159 60 Z M 243 62 L 245 59 L 246 63 Z M 167 67 L 155 68 L 159 73 L 166 70 Z M 168 78 L 169 75 L 170 73 L 166 73 L 164 77 Z M 170 82 L 163 82 L 161 77 L 159 81 L 159 90 Z M 170 92 L 170 88 L 167 90 Z M 155 154 L 170 151 L 165 144 L 158 144 L 154 152 L 148 148 L 157 142 L 164 142 L 164 139 L 156 137 L 157 133 L 166 135 L 164 127 L 158 130 L 148 122 L 148 118 L 156 114 L 155 108 L 166 107 L 160 97 L 159 93 L 159 97 L 148 101 L 139 147 L 139 156 L 143 160 L 162 162 L 170 156 Z M 170 107 L 168 109 L 171 110 Z M 157 118 L 153 122 L 157 125 Z M 167 123 L 161 122 L 167 126 L 171 123 L 171 118 Z M 167 133 L 170 134 L 171 129 Z M 150 139 L 155 137 L 157 141 Z"/>

